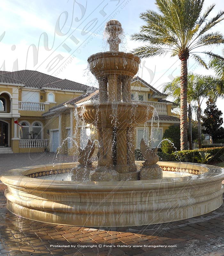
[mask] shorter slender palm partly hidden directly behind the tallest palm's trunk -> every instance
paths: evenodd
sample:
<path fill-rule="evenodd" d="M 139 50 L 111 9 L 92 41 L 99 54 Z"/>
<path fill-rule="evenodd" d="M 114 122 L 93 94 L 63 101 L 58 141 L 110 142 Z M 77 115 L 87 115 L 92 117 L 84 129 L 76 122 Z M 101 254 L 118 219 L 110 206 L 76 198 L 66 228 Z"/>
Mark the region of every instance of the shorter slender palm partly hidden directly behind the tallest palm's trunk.
<path fill-rule="evenodd" d="M 189 149 L 192 149 L 192 106 L 191 102 L 193 100 L 192 95 L 194 92 L 195 75 L 193 73 L 188 74 L 188 92 L 187 92 L 187 102 L 188 102 L 188 132 L 189 132 Z M 172 82 L 164 85 L 164 93 L 173 97 L 175 102 L 180 104 L 180 76 L 173 79 Z"/>

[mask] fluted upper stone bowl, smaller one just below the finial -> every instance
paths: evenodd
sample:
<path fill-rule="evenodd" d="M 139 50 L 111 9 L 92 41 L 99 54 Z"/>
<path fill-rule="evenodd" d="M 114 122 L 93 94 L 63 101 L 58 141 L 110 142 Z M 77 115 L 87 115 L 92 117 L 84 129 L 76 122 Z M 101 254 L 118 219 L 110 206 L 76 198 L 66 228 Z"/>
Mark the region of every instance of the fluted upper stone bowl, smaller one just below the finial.
<path fill-rule="evenodd" d="M 127 52 L 99 52 L 91 55 L 87 61 L 95 76 L 117 74 L 133 77 L 140 64 L 138 56 Z"/>

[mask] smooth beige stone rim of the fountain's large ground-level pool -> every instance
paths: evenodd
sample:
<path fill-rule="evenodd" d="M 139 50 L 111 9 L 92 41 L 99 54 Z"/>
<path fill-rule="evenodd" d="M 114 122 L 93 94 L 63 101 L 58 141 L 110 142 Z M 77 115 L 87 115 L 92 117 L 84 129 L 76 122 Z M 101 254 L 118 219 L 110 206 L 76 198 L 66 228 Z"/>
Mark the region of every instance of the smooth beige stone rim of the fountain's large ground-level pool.
<path fill-rule="evenodd" d="M 143 161 L 138 161 L 143 162 Z M 42 190 L 43 188 L 47 190 L 60 190 L 60 191 L 114 191 L 114 190 L 145 190 L 146 188 L 159 189 L 166 187 L 191 187 L 191 181 L 194 182 L 194 185 L 202 185 L 208 182 L 215 182 L 217 180 L 224 180 L 224 168 L 214 165 L 207 164 L 192 164 L 192 163 L 178 163 L 178 162 L 158 162 L 160 165 L 181 165 L 188 166 L 188 168 L 201 167 L 203 169 L 203 174 L 198 174 L 194 176 L 182 177 L 182 178 L 170 178 L 162 180 L 136 180 L 136 181 L 59 181 L 59 180 L 41 180 L 35 178 L 29 178 L 25 175 L 33 173 L 41 168 L 46 168 L 47 170 L 57 170 L 59 168 L 66 169 L 74 167 L 74 164 L 78 163 L 64 163 L 64 164 L 55 164 L 52 166 L 49 165 L 38 165 L 32 167 L 26 167 L 22 169 L 13 169 L 7 172 L 4 172 L 0 176 L 0 180 L 10 187 L 17 188 L 33 188 L 36 190 Z M 64 165 L 64 166 L 63 166 Z M 62 168 L 63 166 L 63 168 Z M 57 168 L 58 167 L 58 168 Z M 183 167 L 182 167 L 183 168 Z M 207 171 L 206 171 L 207 169 Z M 192 178 L 193 177 L 193 178 Z"/>

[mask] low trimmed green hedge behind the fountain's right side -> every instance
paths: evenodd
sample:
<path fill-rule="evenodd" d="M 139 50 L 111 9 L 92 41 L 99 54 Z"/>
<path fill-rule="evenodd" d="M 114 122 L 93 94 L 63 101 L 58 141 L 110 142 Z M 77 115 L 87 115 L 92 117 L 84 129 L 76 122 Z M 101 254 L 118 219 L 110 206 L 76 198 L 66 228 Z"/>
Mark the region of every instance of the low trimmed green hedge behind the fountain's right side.
<path fill-rule="evenodd" d="M 173 152 L 172 154 L 158 152 L 158 156 L 161 161 L 197 163 L 196 159 L 194 159 L 194 156 L 195 154 L 198 155 L 198 151 L 208 152 L 213 156 L 207 164 L 219 163 L 224 161 L 224 147 L 182 150 Z M 139 149 L 135 149 L 135 160 L 145 160 Z"/>

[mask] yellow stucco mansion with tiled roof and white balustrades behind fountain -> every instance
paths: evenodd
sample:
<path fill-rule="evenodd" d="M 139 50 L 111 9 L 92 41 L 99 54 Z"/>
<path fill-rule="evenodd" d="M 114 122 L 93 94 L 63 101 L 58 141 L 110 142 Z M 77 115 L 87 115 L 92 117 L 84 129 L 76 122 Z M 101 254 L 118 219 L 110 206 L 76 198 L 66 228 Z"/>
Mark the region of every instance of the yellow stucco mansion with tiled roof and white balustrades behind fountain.
<path fill-rule="evenodd" d="M 133 78 L 131 90 L 133 101 L 157 110 L 159 128 L 153 130 L 151 144 L 156 147 L 165 129 L 180 123 L 172 116 L 177 105 L 138 76 Z M 84 84 L 32 70 L 0 71 L 0 154 L 44 150 L 74 154 L 77 145 L 83 148 L 88 138 L 97 136 L 93 126 L 76 124 L 75 109 L 97 100 L 97 88 Z M 150 127 L 149 121 L 136 128 L 136 148 L 143 136 L 149 139 Z"/>

